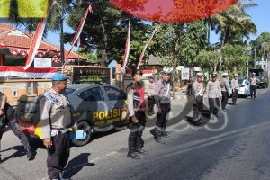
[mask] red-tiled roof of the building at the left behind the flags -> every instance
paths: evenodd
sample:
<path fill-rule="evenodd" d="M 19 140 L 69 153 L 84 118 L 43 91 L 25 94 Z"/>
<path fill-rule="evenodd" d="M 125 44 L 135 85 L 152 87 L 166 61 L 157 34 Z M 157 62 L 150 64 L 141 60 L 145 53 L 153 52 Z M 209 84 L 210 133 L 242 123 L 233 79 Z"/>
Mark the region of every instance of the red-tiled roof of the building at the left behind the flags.
<path fill-rule="evenodd" d="M 33 35 L 31 33 L 20 31 L 21 35 L 8 35 L 11 32 L 20 31 L 7 23 L 0 23 L 0 43 L 4 44 L 5 48 L 17 48 L 17 49 L 29 49 L 31 46 L 31 39 Z M 60 51 L 60 48 L 50 43 L 47 40 L 41 40 L 39 51 Z M 86 59 L 79 56 L 74 52 L 70 52 L 67 57 L 68 50 L 65 50 L 65 58 L 68 59 Z"/>

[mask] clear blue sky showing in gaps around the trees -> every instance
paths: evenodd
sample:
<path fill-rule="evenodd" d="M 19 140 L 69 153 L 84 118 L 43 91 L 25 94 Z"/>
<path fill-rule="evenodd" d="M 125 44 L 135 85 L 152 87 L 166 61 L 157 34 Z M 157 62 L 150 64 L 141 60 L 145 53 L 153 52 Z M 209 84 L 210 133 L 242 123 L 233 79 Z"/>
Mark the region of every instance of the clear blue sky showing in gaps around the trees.
<path fill-rule="evenodd" d="M 251 16 L 253 22 L 257 25 L 257 35 L 250 36 L 250 40 L 255 40 L 259 34 L 262 32 L 270 32 L 270 1 L 269 0 L 254 0 L 257 7 L 250 8 L 247 13 Z M 74 32 L 71 28 L 64 24 L 65 32 Z M 47 40 L 59 45 L 59 35 L 58 33 L 49 32 Z M 211 43 L 218 42 L 219 35 L 216 35 L 213 31 L 211 32 Z M 70 45 L 65 44 L 65 49 L 69 49 Z M 76 50 L 74 48 L 73 50 Z"/>

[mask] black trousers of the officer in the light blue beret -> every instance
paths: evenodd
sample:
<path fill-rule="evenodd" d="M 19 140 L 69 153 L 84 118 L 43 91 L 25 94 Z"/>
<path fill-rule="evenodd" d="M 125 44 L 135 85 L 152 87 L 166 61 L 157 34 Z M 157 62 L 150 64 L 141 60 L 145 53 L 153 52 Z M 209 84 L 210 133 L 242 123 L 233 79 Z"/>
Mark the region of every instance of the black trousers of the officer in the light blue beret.
<path fill-rule="evenodd" d="M 57 136 L 51 137 L 52 148 L 48 149 L 47 166 L 50 179 L 58 179 L 59 172 L 67 165 L 70 139 L 68 133 L 59 132 Z"/>

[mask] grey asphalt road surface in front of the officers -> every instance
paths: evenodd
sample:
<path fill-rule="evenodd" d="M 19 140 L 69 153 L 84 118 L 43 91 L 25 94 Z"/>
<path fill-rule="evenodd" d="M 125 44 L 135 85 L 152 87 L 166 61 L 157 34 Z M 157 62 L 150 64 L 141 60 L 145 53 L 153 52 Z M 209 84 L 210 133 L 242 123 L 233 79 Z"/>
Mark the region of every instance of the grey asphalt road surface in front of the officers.
<path fill-rule="evenodd" d="M 229 100 L 231 102 L 231 100 Z M 205 118 L 202 126 L 187 122 L 192 116 L 186 100 L 173 103 L 170 114 L 172 140 L 157 144 L 150 133 L 155 118 L 144 131 L 148 156 L 126 157 L 129 130 L 94 135 L 85 147 L 71 148 L 65 176 L 72 179 L 177 179 L 269 180 L 270 91 L 258 90 L 256 100 L 238 99 L 221 113 L 219 121 Z M 187 118 L 188 119 L 188 118 Z M 0 179 L 47 179 L 46 150 L 37 149 L 29 162 L 23 146 L 11 131 L 2 140 Z"/>

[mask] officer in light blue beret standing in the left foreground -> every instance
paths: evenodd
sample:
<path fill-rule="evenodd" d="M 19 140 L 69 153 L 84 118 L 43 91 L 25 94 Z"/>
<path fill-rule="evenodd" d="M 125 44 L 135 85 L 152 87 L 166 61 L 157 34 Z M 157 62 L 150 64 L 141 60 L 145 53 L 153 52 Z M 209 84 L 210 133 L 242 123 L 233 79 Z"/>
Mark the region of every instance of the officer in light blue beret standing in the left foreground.
<path fill-rule="evenodd" d="M 67 165 L 70 139 L 67 128 L 72 125 L 70 103 L 64 94 L 67 76 L 56 74 L 51 77 L 52 88 L 40 98 L 40 126 L 43 144 L 47 148 L 47 166 L 50 179 L 63 179 Z"/>

